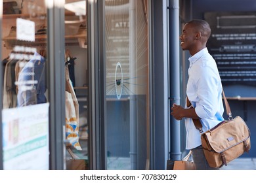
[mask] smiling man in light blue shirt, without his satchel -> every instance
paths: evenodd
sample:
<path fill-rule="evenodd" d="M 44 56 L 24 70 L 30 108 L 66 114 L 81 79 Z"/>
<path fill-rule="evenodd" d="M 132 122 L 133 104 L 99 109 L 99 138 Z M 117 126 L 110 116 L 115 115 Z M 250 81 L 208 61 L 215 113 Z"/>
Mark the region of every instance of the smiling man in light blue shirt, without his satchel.
<path fill-rule="evenodd" d="M 183 108 L 173 104 L 171 115 L 176 120 L 185 119 L 186 149 L 192 150 L 196 169 L 209 167 L 203 154 L 200 132 L 192 119 L 200 119 L 203 131 L 211 129 L 224 120 L 221 78 L 215 59 L 208 53 L 206 42 L 211 35 L 211 28 L 204 20 L 192 20 L 182 30 L 181 48 L 190 52 L 190 67 L 186 95 L 192 107 Z"/>

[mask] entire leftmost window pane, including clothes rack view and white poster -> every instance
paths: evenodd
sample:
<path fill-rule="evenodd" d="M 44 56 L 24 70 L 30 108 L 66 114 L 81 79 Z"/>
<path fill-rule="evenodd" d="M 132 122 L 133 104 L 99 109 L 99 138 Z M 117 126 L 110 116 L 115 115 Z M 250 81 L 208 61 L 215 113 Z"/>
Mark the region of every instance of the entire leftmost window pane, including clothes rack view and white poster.
<path fill-rule="evenodd" d="M 47 8 L 3 1 L 3 167 L 49 169 Z"/>

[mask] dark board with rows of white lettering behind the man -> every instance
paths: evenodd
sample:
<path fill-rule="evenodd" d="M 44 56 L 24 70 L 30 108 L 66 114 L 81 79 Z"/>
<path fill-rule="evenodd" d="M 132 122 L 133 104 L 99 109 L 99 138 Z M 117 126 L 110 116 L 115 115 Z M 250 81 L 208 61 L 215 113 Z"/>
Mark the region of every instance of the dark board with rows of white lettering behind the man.
<path fill-rule="evenodd" d="M 256 12 L 205 12 L 223 85 L 256 86 Z"/>

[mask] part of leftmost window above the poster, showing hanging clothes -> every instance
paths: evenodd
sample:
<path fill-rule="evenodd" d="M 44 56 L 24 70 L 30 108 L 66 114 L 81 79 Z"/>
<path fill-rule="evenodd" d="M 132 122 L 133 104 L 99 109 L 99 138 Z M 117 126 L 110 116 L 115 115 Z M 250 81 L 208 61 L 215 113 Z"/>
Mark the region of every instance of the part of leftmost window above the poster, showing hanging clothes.
<path fill-rule="evenodd" d="M 3 108 L 47 102 L 43 1 L 3 1 Z"/>

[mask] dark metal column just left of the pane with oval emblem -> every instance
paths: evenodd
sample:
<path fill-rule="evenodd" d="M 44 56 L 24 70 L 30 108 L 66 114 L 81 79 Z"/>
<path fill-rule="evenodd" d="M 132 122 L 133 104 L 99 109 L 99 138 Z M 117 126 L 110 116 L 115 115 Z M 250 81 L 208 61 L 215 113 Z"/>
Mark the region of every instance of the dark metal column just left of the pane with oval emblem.
<path fill-rule="evenodd" d="M 105 1 L 87 1 L 89 67 L 89 168 L 106 162 Z"/>

